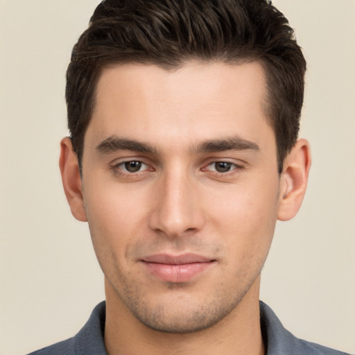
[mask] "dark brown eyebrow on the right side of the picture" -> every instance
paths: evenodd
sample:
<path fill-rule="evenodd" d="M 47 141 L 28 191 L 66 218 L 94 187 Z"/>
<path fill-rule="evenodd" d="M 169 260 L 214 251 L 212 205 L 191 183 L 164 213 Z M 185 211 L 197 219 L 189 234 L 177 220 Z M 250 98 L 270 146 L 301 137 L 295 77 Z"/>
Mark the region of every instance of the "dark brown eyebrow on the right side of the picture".
<path fill-rule="evenodd" d="M 194 150 L 196 153 L 216 153 L 226 150 L 260 150 L 260 148 L 252 141 L 239 137 L 227 137 L 224 139 L 205 141 L 199 144 Z"/>

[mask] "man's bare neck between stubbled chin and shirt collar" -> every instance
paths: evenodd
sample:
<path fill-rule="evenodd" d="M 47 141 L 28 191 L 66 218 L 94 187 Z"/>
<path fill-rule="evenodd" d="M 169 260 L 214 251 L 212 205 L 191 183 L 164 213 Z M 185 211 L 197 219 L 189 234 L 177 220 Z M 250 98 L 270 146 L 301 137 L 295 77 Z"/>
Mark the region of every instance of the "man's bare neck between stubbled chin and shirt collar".
<path fill-rule="evenodd" d="M 105 347 L 108 355 L 263 355 L 260 277 L 243 300 L 214 326 L 189 334 L 155 331 L 137 320 L 105 280 Z"/>

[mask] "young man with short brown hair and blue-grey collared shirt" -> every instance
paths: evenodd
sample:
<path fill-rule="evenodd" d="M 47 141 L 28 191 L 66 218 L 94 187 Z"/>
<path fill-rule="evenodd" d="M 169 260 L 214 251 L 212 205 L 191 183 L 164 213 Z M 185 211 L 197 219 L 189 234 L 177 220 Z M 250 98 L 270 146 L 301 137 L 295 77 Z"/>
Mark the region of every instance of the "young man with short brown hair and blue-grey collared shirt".
<path fill-rule="evenodd" d="M 96 8 L 67 71 L 60 169 L 106 302 L 34 354 L 341 354 L 259 303 L 276 220 L 306 190 L 305 69 L 264 0 Z"/>

